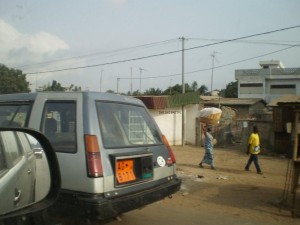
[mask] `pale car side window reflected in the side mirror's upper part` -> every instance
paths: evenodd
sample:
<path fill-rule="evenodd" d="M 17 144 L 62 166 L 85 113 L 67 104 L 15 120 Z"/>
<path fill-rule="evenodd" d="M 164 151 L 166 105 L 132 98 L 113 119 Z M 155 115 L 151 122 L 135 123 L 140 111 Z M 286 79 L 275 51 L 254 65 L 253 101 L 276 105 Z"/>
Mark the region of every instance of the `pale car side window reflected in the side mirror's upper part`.
<path fill-rule="evenodd" d="M 9 168 L 16 165 L 22 158 L 23 152 L 16 138 L 15 132 L 2 132 L 2 142 L 5 149 L 5 158 Z"/>

